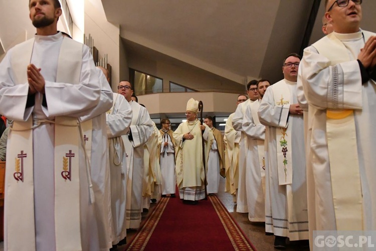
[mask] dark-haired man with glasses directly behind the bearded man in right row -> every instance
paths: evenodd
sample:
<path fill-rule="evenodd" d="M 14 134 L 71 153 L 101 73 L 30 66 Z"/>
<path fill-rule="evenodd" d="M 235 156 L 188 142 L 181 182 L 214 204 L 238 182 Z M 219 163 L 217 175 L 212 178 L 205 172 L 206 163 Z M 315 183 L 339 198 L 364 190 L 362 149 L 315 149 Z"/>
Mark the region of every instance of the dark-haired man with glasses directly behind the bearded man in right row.
<path fill-rule="evenodd" d="M 257 80 L 254 79 L 249 81 L 247 84 L 247 94 L 249 99 L 238 105 L 232 120 L 232 126 L 234 129 L 241 132 L 241 140 L 239 143 L 239 182 L 236 207 L 236 211 L 239 213 L 248 213 L 246 175 L 249 172 L 247 172 L 246 156 L 250 152 L 247 149 L 247 136 L 243 131 L 242 124 L 247 106 L 259 98 L 259 92 L 257 91 Z"/>

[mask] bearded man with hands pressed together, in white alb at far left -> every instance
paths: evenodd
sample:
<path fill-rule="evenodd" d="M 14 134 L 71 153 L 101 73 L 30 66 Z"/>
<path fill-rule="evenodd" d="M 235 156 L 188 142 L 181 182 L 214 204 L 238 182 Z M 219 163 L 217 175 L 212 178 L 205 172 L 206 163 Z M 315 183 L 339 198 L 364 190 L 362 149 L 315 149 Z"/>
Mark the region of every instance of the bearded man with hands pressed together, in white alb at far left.
<path fill-rule="evenodd" d="M 14 120 L 4 248 L 99 250 L 78 118 L 99 103 L 100 80 L 89 48 L 57 32 L 59 1 L 31 0 L 29 10 L 37 34 L 0 64 L 0 113 Z"/>

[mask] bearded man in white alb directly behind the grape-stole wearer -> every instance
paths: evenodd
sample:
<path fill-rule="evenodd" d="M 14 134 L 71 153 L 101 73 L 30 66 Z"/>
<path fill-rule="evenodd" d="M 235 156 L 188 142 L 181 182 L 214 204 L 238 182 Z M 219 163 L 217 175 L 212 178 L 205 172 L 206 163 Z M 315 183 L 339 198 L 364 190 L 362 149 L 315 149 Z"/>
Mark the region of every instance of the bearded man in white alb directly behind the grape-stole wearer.
<path fill-rule="evenodd" d="M 266 88 L 270 83 L 266 79 L 257 82 L 260 99 L 247 106 L 243 119 L 243 131 L 247 135 L 249 154 L 246 163 L 249 175 L 247 183 L 248 219 L 265 221 L 265 126 L 260 123 L 257 112 Z"/>

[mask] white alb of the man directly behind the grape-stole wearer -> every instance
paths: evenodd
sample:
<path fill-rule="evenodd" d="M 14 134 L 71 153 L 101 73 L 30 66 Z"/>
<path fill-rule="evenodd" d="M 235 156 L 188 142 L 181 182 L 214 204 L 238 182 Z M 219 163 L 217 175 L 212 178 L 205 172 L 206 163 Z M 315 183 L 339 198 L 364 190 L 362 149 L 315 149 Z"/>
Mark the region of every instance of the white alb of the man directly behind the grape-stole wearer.
<path fill-rule="evenodd" d="M 243 119 L 243 131 L 248 137 L 246 149 L 248 149 L 249 154 L 247 154 L 246 162 L 250 175 L 246 176 L 246 183 L 248 218 L 250 221 L 265 221 L 265 198 L 258 149 L 258 141 L 264 142 L 265 140 L 265 126 L 256 123 L 253 118 L 255 111 L 257 114 L 259 105 L 260 100 L 248 105 Z M 255 109 L 255 111 L 252 111 L 252 109 Z"/>

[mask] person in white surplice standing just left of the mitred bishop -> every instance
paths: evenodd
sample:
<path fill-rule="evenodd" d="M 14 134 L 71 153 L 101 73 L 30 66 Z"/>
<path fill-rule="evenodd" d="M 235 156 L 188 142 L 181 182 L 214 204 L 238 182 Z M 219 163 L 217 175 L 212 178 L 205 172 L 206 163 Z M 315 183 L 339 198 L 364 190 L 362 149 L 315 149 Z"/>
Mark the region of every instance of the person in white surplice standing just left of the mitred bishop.
<path fill-rule="evenodd" d="M 162 129 L 159 130 L 162 136 L 160 145 L 160 172 L 162 174 L 162 197 L 170 194 L 175 198 L 176 176 L 175 176 L 175 140 L 170 129 L 171 122 L 168 118 L 160 120 Z"/>

